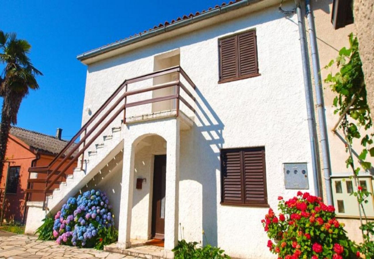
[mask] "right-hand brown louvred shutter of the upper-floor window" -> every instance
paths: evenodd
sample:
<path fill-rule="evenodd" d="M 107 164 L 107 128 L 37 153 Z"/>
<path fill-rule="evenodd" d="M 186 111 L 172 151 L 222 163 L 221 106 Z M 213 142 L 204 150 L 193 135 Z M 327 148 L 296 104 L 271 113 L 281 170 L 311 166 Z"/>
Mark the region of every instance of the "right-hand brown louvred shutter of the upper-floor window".
<path fill-rule="evenodd" d="M 239 77 L 258 74 L 256 31 L 239 34 Z"/>

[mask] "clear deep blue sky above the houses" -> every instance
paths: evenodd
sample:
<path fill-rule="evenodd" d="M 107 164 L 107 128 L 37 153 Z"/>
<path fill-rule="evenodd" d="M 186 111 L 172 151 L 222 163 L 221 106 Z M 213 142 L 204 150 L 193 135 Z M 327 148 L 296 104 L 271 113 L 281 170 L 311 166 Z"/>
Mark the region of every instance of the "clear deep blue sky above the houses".
<path fill-rule="evenodd" d="M 22 101 L 16 126 L 50 135 L 60 127 L 62 137 L 71 138 L 81 125 L 86 80 L 86 66 L 76 55 L 221 3 L 6 1 L 1 4 L 0 30 L 28 40 L 30 58 L 44 74 L 38 77 L 40 89 Z"/>

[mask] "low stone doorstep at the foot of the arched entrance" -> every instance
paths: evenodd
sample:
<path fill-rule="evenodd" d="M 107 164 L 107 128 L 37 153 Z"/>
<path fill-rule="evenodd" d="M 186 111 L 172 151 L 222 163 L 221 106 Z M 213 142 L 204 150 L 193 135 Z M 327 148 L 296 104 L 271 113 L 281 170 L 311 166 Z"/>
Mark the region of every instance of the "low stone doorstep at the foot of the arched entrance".
<path fill-rule="evenodd" d="M 104 246 L 104 251 L 147 259 L 174 258 L 173 252 L 166 251 L 163 247 L 146 245 L 146 242 L 147 240 L 131 240 L 131 247 L 127 249 L 117 247 L 117 243 L 113 243 Z"/>

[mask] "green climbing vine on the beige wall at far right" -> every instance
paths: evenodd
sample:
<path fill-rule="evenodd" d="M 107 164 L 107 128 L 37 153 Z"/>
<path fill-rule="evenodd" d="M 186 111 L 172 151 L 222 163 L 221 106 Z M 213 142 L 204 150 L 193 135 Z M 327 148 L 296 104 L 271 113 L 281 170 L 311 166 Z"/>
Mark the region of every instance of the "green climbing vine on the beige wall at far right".
<path fill-rule="evenodd" d="M 361 153 L 358 156 L 359 164 L 364 170 L 371 169 L 371 162 L 367 159 L 370 156 L 374 156 L 374 147 L 372 147 L 374 137 L 373 122 L 367 104 L 367 91 L 359 55 L 358 40 L 352 33 L 349 35 L 349 44 L 349 49 L 345 47 L 340 49 L 338 57 L 326 65 L 326 69 L 336 65 L 339 71 L 335 75 L 331 71 L 327 75 L 325 82 L 329 83 L 332 91 L 337 93 L 333 101 L 334 113 L 340 115 L 338 127 L 343 130 L 346 140 L 346 152 L 348 153 L 346 165 L 347 168 L 350 167 L 353 171 L 351 178 L 354 179 L 356 187 L 352 195 L 356 196 L 359 208 L 361 208 L 359 209 L 360 229 L 364 242 L 360 244 L 359 251 L 366 258 L 374 258 L 374 243 L 371 241 L 371 237 L 374 235 L 374 224 L 367 220 L 363 206 L 364 203 L 368 202 L 368 198 L 372 194 L 358 184 L 358 173 L 361 168 L 355 166 L 352 154 L 353 141 L 359 140 L 362 146 Z"/>

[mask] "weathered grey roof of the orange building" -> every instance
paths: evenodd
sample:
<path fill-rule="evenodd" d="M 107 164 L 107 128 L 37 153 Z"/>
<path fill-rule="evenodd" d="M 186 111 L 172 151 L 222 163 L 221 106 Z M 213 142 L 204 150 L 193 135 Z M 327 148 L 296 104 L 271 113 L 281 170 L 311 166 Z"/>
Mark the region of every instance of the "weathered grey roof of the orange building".
<path fill-rule="evenodd" d="M 62 139 L 59 140 L 55 136 L 46 135 L 40 132 L 31 131 L 28 129 L 14 127 L 14 126 L 10 128 L 9 133 L 19 138 L 20 140 L 24 141 L 27 145 L 29 145 L 33 149 L 40 151 L 40 152 L 49 153 L 51 155 L 58 154 L 69 142 L 68 140 L 62 140 Z M 65 155 L 67 155 L 68 152 L 70 152 L 70 150 L 73 149 L 75 145 L 76 144 L 73 143 L 69 147 L 67 152 L 65 152 Z M 75 155 L 76 153 L 77 153 L 77 150 L 73 153 L 73 155 Z"/>

